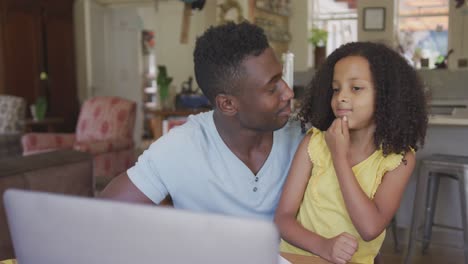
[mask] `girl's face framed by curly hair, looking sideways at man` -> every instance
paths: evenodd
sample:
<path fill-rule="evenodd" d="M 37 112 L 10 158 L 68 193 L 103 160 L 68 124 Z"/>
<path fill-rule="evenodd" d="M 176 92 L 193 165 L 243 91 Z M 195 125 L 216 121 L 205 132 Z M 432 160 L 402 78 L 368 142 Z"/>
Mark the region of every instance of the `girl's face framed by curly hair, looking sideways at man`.
<path fill-rule="evenodd" d="M 346 116 L 350 130 L 374 125 L 375 89 L 367 59 L 348 56 L 333 70 L 331 107 L 336 117 Z"/>

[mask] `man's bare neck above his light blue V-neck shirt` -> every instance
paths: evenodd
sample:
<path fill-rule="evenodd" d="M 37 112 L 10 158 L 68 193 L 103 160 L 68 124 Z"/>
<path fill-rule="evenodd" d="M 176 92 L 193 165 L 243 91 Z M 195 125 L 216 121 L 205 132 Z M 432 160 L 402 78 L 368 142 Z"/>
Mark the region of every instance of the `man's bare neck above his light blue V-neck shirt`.
<path fill-rule="evenodd" d="M 243 128 L 217 111 L 213 114 L 215 127 L 226 146 L 250 170 L 257 174 L 273 146 L 273 131 L 259 132 Z"/>

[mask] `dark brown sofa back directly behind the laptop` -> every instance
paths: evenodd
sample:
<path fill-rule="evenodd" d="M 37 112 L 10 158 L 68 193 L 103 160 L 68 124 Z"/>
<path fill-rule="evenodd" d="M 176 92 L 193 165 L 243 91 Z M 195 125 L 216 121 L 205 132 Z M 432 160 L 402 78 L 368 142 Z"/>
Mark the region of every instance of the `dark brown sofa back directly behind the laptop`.
<path fill-rule="evenodd" d="M 0 260 L 14 258 L 3 193 L 17 188 L 78 196 L 93 196 L 92 156 L 62 150 L 0 160 Z"/>

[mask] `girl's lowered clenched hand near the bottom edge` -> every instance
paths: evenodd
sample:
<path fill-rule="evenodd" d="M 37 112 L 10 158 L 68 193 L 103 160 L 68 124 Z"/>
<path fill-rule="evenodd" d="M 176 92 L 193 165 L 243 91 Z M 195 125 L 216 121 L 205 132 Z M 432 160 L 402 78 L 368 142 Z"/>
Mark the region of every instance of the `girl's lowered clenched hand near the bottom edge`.
<path fill-rule="evenodd" d="M 338 264 L 346 264 L 351 260 L 358 248 L 358 242 L 352 235 L 343 232 L 336 237 L 325 239 L 324 252 L 320 257 Z"/>

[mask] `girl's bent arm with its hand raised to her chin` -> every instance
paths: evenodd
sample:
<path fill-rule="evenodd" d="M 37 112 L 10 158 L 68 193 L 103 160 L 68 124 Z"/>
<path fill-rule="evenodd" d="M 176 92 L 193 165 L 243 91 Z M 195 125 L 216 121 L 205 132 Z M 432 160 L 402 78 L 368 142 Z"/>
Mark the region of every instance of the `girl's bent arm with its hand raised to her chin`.
<path fill-rule="evenodd" d="M 400 206 L 401 197 L 415 167 L 415 154 L 406 153 L 403 157 L 405 162 L 385 173 L 374 199 L 370 199 L 361 189 L 348 160 L 347 121 L 336 119 L 329 131 L 326 135 L 326 138 L 329 137 L 327 144 L 332 152 L 333 165 L 351 221 L 364 240 L 373 240 L 385 230 Z"/>

